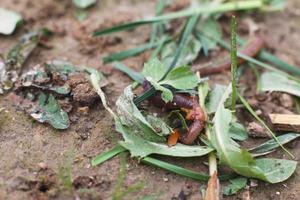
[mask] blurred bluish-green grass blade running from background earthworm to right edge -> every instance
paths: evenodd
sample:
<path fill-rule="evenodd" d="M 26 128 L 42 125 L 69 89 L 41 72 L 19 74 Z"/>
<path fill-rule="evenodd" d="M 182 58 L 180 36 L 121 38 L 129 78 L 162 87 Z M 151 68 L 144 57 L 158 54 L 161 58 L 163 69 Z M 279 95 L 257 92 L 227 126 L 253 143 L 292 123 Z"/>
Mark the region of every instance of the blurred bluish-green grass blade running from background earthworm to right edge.
<path fill-rule="evenodd" d="M 238 38 L 238 42 L 241 45 L 246 44 L 246 42 L 243 41 L 241 38 Z M 266 51 L 264 49 L 260 51 L 260 53 L 258 54 L 258 58 L 275 65 L 277 68 L 279 68 L 283 71 L 286 71 L 286 72 L 292 73 L 294 75 L 300 76 L 300 69 L 284 62 L 283 60 L 281 60 L 277 56 L 269 53 L 268 51 Z"/>

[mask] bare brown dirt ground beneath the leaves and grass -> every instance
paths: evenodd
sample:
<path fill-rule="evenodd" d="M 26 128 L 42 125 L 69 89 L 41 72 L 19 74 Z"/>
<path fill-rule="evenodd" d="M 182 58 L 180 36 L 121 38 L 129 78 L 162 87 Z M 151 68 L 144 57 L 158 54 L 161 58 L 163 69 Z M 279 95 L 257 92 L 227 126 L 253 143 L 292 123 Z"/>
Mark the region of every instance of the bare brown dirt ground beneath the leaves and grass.
<path fill-rule="evenodd" d="M 52 0 L 1 0 L 1 7 L 20 12 L 26 23 L 13 36 L 0 36 L 0 54 L 6 52 L 16 39 L 25 32 L 39 27 L 49 27 L 55 32 L 48 46 L 38 47 L 26 62 L 24 71 L 34 65 L 52 59 L 65 59 L 76 65 L 87 65 L 102 71 L 109 80 L 105 92 L 111 105 L 124 87 L 131 81 L 110 65 L 104 65 L 101 57 L 118 50 L 141 44 L 148 39 L 150 27 L 143 26 L 135 31 L 92 39 L 92 31 L 117 23 L 138 19 L 154 13 L 155 1 L 100 1 L 88 10 L 88 17 L 80 22 L 74 17 L 76 9 L 71 1 Z M 241 15 L 239 21 L 246 23 L 252 16 L 266 39 L 267 47 L 290 64 L 300 66 L 300 3 L 288 1 L 282 12 Z M 147 53 L 125 60 L 125 64 L 140 70 L 147 59 Z M 246 86 L 246 97 L 257 109 L 265 112 L 293 112 L 292 105 L 285 105 L 281 94 L 253 94 L 255 77 L 250 70 L 241 84 Z M 226 82 L 228 74 L 217 75 L 212 80 Z M 252 92 L 251 92 L 252 91 Z M 259 99 L 259 100 L 257 100 Z M 288 97 L 289 99 L 289 97 Z M 120 136 L 114 131 L 113 121 L 100 102 L 90 107 L 88 115 L 73 108 L 71 126 L 66 131 L 57 131 L 45 124 L 34 122 L 23 111 L 13 106 L 8 95 L 0 96 L 0 199 L 111 199 L 118 179 L 120 162 L 115 157 L 104 164 L 91 167 L 91 159 L 114 146 Z M 252 119 L 241 113 L 245 123 Z M 248 121 L 247 121 L 248 120 Z M 255 140 L 255 142 L 263 140 Z M 254 141 L 245 145 L 253 145 Z M 289 147 L 300 158 L 300 144 Z M 287 158 L 280 150 L 271 154 Z M 167 159 L 195 171 L 207 173 L 205 159 Z M 257 186 L 243 190 L 226 199 L 253 200 L 296 200 L 300 199 L 300 176 L 296 173 L 286 182 L 275 185 L 258 181 Z M 63 173 L 63 174 L 62 174 Z M 73 185 L 67 177 L 71 173 Z M 135 183 L 143 187 L 130 193 L 125 199 L 142 199 L 157 195 L 158 199 L 201 199 L 200 188 L 205 183 L 174 175 L 167 171 L 146 166 L 137 160 L 126 159 L 126 178 L 123 189 Z M 253 185 L 253 184 L 252 184 Z"/>

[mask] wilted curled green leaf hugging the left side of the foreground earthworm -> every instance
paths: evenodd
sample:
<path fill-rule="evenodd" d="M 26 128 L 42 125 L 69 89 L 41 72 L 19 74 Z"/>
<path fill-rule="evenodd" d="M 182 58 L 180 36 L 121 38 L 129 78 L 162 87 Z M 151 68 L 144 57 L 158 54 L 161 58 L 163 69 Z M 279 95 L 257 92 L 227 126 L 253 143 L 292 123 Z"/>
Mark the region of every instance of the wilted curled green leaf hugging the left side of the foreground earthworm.
<path fill-rule="evenodd" d="M 118 112 L 118 117 L 115 119 L 116 129 L 124 138 L 124 141 L 119 143 L 130 151 L 131 156 L 145 157 L 150 154 L 161 154 L 194 157 L 206 155 L 213 150 L 208 147 L 183 144 L 177 144 L 173 147 L 167 146 L 165 138 L 160 135 L 169 134 L 170 129 L 160 129 L 160 132 L 157 132 L 157 129 L 146 120 L 133 103 L 133 93 L 130 86 L 125 88 L 124 94 L 119 97 L 116 105 Z M 155 120 L 157 121 L 158 118 Z M 168 133 L 163 133 L 164 130 Z"/>

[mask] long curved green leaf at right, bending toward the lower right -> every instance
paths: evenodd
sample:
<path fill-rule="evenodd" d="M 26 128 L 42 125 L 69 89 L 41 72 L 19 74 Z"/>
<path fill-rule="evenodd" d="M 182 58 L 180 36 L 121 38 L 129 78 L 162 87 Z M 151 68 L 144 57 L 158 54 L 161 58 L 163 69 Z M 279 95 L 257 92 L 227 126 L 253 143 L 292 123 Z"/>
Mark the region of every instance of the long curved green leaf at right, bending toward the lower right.
<path fill-rule="evenodd" d="M 232 145 L 229 135 L 232 113 L 224 107 L 232 91 L 229 85 L 220 101 L 214 117 L 213 144 L 217 149 L 220 163 L 229 166 L 236 173 L 245 177 L 257 178 L 270 183 L 277 183 L 289 178 L 296 169 L 297 162 L 280 159 L 257 159 L 236 145 Z"/>

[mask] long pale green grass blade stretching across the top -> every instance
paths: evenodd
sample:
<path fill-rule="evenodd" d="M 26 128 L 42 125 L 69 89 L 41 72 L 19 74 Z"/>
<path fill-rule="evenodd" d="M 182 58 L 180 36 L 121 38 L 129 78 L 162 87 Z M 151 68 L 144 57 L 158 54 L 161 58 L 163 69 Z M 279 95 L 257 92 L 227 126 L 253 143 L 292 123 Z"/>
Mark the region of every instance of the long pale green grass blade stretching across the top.
<path fill-rule="evenodd" d="M 201 7 L 193 7 L 186 10 L 173 12 L 165 15 L 150 17 L 148 19 L 131 22 L 131 23 L 125 23 L 118 26 L 114 26 L 108 29 L 95 31 L 93 33 L 93 36 L 100 36 L 105 34 L 110 34 L 118 31 L 128 30 L 132 29 L 137 26 L 146 25 L 146 24 L 152 24 L 157 23 L 161 21 L 181 18 L 181 17 L 188 17 L 192 15 L 199 15 L 199 14 L 213 14 L 213 13 L 223 13 L 228 11 L 234 11 L 234 10 L 249 10 L 249 9 L 255 9 L 260 8 L 263 6 L 262 0 L 248 0 L 248 1 L 235 1 L 235 2 L 228 2 L 223 3 L 218 6 L 201 6 Z"/>

